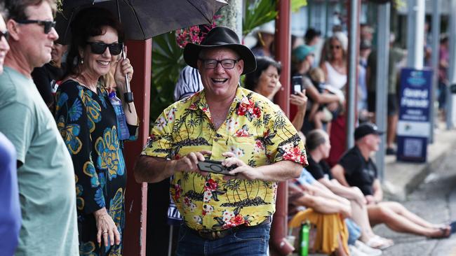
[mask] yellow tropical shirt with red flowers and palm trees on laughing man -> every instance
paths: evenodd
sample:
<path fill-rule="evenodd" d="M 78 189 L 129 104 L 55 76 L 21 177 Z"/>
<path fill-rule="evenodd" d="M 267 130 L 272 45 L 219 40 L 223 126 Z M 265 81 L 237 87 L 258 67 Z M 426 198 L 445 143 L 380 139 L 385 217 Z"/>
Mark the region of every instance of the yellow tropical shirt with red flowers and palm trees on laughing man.
<path fill-rule="evenodd" d="M 142 155 L 178 159 L 189 152 L 210 150 L 222 160 L 234 152 L 250 166 L 282 160 L 307 165 L 304 144 L 281 109 L 269 99 L 242 87 L 218 130 L 212 122 L 204 91 L 177 101 L 156 120 Z M 196 230 L 222 230 L 257 225 L 275 211 L 277 184 L 263 180 L 223 180 L 178 172 L 170 193 L 185 224 Z"/>

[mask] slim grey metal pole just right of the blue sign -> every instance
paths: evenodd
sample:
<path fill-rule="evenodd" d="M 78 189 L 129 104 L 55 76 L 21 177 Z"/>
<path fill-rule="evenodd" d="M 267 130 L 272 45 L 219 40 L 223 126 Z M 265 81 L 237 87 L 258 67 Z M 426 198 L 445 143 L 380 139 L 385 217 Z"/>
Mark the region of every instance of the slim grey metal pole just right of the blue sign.
<path fill-rule="evenodd" d="M 441 13 L 441 0 L 434 0 L 432 2 L 432 69 L 434 70 L 434 79 L 431 90 L 431 120 L 429 131 L 429 143 L 434 143 L 434 126 L 436 123 L 436 91 L 438 88 L 438 45 L 440 36 L 440 13 Z"/>

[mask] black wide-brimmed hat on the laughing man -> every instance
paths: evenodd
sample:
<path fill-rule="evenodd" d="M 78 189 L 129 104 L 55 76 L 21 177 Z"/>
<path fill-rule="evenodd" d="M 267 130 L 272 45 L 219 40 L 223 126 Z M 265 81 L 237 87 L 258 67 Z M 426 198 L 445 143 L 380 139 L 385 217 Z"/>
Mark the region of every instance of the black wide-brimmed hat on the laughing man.
<path fill-rule="evenodd" d="M 242 75 L 250 73 L 257 69 L 257 61 L 253 52 L 245 45 L 239 43 L 239 37 L 232 29 L 228 27 L 215 27 L 209 31 L 206 38 L 203 39 L 201 44 L 187 43 L 184 49 L 185 63 L 189 66 L 198 69 L 197 62 L 199 52 L 203 49 L 213 48 L 229 48 L 237 52 L 239 57 L 244 61 L 244 69 Z"/>

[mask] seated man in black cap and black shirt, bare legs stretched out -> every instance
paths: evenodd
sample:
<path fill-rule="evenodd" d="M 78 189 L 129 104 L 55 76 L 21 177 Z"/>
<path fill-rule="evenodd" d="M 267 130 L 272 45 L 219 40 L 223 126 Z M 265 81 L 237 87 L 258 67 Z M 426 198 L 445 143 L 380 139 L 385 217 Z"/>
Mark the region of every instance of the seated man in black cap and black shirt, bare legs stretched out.
<path fill-rule="evenodd" d="M 384 223 L 396 232 L 412 233 L 429 238 L 450 236 L 449 225 L 434 225 L 408 211 L 394 201 L 382 201 L 383 191 L 377 178 L 377 168 L 370 154 L 378 150 L 382 132 L 370 123 L 355 129 L 355 146 L 346 152 L 331 173 L 342 185 L 356 186 L 368 204 L 371 225 Z"/>

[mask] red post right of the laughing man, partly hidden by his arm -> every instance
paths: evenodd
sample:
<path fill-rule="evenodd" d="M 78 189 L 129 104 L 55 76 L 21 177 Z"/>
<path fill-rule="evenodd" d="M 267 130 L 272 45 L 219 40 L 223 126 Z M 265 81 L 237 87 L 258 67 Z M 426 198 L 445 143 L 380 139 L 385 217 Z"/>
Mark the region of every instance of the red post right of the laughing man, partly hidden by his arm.
<path fill-rule="evenodd" d="M 283 112 L 290 116 L 290 0 L 276 1 L 279 15 L 276 17 L 276 60 L 281 62 L 282 71 L 280 81 L 282 90 L 275 97 L 275 101 Z M 279 183 L 276 199 L 276 213 L 271 227 L 271 255 L 288 255 L 295 248 L 286 241 L 288 231 L 288 187 L 287 182 Z"/>

